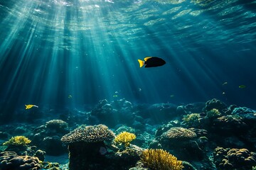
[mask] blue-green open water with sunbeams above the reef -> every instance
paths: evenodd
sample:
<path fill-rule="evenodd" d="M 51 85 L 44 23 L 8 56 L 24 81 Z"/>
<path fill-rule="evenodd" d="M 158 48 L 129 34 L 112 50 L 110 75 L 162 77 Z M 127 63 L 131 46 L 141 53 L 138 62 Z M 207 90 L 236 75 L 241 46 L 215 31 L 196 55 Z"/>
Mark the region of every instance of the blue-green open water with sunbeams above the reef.
<path fill-rule="evenodd" d="M 122 98 L 256 109 L 255 9 L 255 0 L 0 0 L 0 122 Z M 140 68 L 144 57 L 166 64 Z"/>

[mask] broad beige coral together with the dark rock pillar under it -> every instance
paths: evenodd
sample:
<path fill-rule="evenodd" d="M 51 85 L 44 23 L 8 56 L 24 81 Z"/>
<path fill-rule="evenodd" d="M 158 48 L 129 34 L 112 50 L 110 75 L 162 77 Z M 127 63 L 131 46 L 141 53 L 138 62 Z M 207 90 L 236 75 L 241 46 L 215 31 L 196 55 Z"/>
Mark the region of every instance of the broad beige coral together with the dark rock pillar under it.
<path fill-rule="evenodd" d="M 114 132 L 102 124 L 77 128 L 64 135 L 61 141 L 68 143 L 69 169 L 102 169 L 107 162 L 104 141 L 112 141 L 114 137 Z"/>

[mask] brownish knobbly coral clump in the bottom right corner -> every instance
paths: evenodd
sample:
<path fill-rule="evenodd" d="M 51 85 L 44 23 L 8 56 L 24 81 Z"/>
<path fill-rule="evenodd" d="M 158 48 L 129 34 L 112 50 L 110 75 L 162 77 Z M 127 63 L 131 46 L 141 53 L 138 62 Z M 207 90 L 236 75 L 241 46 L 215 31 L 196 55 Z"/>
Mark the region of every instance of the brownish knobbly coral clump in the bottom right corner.
<path fill-rule="evenodd" d="M 213 158 L 216 167 L 222 170 L 246 170 L 252 169 L 252 166 L 256 165 L 256 154 L 249 152 L 248 149 L 216 147 Z"/>

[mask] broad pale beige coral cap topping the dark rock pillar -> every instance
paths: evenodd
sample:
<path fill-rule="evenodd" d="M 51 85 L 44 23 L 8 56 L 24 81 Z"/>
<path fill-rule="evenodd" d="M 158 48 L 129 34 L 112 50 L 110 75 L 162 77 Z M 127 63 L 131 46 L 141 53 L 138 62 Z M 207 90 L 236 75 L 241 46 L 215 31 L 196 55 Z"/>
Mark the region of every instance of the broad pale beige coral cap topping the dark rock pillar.
<path fill-rule="evenodd" d="M 102 142 L 113 140 L 114 132 L 107 128 L 106 125 L 90 125 L 85 128 L 77 128 L 61 138 L 62 142 Z"/>

